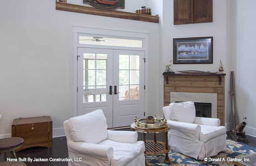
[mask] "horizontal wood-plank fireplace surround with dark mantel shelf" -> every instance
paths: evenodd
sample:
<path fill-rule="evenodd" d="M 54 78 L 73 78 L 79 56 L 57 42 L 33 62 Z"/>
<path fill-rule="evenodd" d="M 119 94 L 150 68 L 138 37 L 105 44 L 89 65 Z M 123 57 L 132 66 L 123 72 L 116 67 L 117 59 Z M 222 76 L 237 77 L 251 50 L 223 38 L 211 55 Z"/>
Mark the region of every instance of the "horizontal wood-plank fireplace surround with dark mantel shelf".
<path fill-rule="evenodd" d="M 225 125 L 225 77 L 226 74 L 163 74 L 164 106 L 170 104 L 170 92 L 216 93 L 217 118 Z"/>

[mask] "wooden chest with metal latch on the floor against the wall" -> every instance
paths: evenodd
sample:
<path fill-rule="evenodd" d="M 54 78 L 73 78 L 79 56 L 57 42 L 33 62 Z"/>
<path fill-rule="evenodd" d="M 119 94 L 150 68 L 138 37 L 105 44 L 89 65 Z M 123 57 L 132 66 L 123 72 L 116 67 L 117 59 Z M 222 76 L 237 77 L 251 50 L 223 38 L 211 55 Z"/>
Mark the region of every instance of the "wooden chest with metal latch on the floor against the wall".
<path fill-rule="evenodd" d="M 12 137 L 24 139 L 22 150 L 33 146 L 52 147 L 52 120 L 50 116 L 18 118 L 13 120 Z"/>

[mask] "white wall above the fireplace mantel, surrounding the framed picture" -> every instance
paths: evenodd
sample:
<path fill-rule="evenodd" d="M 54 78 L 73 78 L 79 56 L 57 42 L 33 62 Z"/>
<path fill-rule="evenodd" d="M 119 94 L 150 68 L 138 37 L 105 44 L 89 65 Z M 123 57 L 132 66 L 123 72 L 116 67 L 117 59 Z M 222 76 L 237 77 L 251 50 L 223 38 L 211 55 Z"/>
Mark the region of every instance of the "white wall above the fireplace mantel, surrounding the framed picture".
<path fill-rule="evenodd" d="M 191 38 L 213 36 L 213 64 L 175 64 L 172 69 L 179 70 L 203 70 L 218 71 L 219 59 L 222 60 L 224 71 L 226 70 L 226 0 L 213 0 L 213 22 L 200 24 L 173 24 L 173 0 L 163 0 L 162 24 L 162 62 L 160 72 L 165 70 L 164 65 L 173 59 L 173 38 Z M 159 28 L 161 29 L 161 28 Z M 161 36 L 161 34 L 160 34 Z M 163 76 L 159 76 L 161 86 L 159 88 L 159 115 L 162 114 L 163 106 Z M 227 77 L 226 77 L 227 81 Z M 228 84 L 228 81 L 226 82 Z M 227 90 L 226 90 L 227 91 Z M 226 93 L 227 96 L 227 93 Z"/>

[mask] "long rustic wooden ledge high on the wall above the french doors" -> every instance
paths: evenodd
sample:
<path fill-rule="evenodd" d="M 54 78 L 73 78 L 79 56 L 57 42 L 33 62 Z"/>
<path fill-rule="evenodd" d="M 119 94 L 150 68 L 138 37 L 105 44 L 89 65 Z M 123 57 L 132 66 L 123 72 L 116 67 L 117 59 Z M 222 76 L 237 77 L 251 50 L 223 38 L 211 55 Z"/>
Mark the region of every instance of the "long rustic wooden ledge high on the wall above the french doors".
<path fill-rule="evenodd" d="M 56 10 L 92 14 L 98 16 L 115 17 L 121 19 L 138 20 L 151 23 L 159 23 L 159 16 L 150 16 L 145 14 L 137 14 L 130 12 L 123 12 L 117 10 L 97 9 L 82 5 L 75 5 L 70 3 L 56 2 Z M 135 10 L 135 9 L 134 9 Z"/>

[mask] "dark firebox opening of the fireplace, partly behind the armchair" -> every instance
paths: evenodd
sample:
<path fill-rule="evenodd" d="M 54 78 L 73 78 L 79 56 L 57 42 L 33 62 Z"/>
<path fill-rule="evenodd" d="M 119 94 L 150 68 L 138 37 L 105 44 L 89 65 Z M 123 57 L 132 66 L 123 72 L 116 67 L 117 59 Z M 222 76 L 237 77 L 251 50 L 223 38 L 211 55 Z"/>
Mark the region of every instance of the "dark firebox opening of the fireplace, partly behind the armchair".
<path fill-rule="evenodd" d="M 180 103 L 180 102 L 175 102 Z M 212 104 L 211 103 L 196 103 L 196 117 L 212 118 Z"/>

